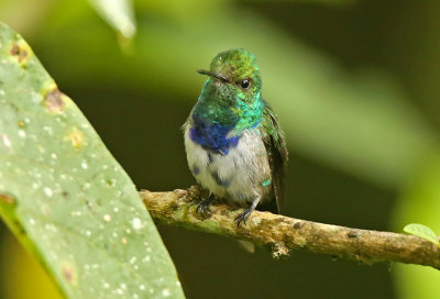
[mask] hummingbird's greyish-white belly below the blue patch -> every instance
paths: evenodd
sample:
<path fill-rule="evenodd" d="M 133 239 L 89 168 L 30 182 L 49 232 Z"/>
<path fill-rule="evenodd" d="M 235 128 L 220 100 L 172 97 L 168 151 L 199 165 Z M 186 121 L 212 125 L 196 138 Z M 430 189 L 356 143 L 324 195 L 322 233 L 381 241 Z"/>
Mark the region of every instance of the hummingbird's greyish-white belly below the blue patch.
<path fill-rule="evenodd" d="M 266 148 L 256 129 L 244 132 L 237 147 L 227 155 L 212 154 L 194 143 L 185 129 L 188 166 L 197 181 L 216 197 L 239 204 L 251 202 L 272 191 Z"/>

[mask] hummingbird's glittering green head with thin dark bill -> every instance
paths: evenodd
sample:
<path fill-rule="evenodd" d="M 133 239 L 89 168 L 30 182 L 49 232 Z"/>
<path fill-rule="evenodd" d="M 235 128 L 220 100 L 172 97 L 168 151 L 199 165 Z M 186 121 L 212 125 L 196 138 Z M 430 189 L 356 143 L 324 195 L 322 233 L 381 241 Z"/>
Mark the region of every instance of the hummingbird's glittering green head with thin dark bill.
<path fill-rule="evenodd" d="M 219 53 L 209 70 L 198 73 L 210 77 L 196 108 L 198 114 L 218 123 L 234 123 L 239 131 L 261 120 L 262 77 L 253 54 L 242 48 Z"/>

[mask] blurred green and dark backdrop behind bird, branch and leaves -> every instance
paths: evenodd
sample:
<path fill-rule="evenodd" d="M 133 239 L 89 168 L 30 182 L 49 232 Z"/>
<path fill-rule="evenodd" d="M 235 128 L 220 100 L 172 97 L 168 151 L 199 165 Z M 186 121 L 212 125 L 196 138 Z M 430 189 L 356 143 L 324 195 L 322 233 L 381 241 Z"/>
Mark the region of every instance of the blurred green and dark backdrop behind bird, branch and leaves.
<path fill-rule="evenodd" d="M 220 51 L 253 52 L 290 152 L 287 215 L 440 233 L 439 1 L 134 2 L 128 41 L 87 1 L 0 0 L 138 188 L 195 184 L 180 126 Z M 57 298 L 0 223 L 0 298 Z M 438 270 L 294 252 L 160 228 L 188 298 L 404 298 L 440 294 Z"/>

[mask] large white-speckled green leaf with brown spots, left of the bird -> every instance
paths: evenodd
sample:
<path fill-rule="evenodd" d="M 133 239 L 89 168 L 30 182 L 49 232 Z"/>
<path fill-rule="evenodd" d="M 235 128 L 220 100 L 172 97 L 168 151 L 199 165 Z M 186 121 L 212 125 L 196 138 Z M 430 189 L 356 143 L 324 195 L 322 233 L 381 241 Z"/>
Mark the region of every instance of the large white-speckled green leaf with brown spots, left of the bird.
<path fill-rule="evenodd" d="M 69 298 L 183 298 L 122 167 L 0 23 L 0 214 Z"/>

